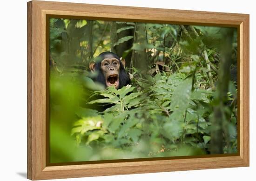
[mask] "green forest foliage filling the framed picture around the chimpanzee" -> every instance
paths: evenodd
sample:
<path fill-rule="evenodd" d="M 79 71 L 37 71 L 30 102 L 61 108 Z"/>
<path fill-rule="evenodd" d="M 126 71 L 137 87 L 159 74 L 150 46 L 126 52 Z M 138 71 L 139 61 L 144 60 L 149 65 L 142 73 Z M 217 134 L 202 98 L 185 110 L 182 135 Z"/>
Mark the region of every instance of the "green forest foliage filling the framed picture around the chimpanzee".
<path fill-rule="evenodd" d="M 50 19 L 50 162 L 237 152 L 235 28 Z M 89 62 L 111 51 L 131 85 Z"/>

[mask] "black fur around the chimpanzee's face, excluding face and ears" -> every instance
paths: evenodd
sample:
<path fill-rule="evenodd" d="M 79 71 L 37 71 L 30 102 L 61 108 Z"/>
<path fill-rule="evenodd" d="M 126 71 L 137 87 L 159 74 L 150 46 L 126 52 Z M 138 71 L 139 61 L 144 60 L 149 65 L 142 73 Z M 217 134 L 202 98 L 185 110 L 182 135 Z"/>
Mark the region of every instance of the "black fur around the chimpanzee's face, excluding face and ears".
<path fill-rule="evenodd" d="M 105 52 L 101 53 L 99 56 L 97 56 L 96 62 L 95 62 L 95 71 L 98 73 L 98 75 L 97 75 L 97 77 L 94 78 L 94 81 L 97 81 L 97 82 L 103 84 L 106 87 L 106 82 L 105 82 L 106 78 L 105 78 L 103 72 L 101 71 L 101 61 L 104 60 L 105 57 L 109 54 L 111 54 L 113 57 L 118 59 L 118 61 L 120 63 L 119 87 L 118 87 L 118 89 L 120 89 L 123 86 L 127 86 L 128 84 L 131 83 L 131 80 L 130 80 L 130 77 L 129 77 L 128 73 L 124 69 L 124 66 L 123 66 L 120 58 L 117 55 L 115 55 L 115 53 L 112 53 L 112 52 L 109 52 L 109 51 L 105 51 Z"/>

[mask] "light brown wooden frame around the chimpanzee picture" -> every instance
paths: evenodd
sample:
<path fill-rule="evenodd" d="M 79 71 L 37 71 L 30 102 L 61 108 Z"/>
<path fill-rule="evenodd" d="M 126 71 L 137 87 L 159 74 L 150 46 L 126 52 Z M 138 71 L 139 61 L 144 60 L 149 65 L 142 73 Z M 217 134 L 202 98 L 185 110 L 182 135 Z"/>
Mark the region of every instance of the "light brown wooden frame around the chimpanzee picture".
<path fill-rule="evenodd" d="M 47 164 L 47 15 L 102 20 L 216 25 L 238 29 L 238 151 L 153 161 Z M 249 166 L 249 15 L 33 0 L 27 3 L 27 178 L 31 180 Z"/>

